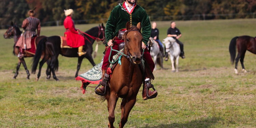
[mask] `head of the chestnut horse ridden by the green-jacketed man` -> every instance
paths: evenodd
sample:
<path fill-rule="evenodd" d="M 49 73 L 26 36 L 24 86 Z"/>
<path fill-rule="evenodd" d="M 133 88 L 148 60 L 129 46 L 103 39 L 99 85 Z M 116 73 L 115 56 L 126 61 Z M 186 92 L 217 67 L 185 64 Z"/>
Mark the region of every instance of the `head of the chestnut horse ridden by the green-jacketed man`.
<path fill-rule="evenodd" d="M 140 23 L 137 26 L 130 27 L 130 22 L 126 23 L 126 32 L 124 33 L 125 54 L 130 55 L 134 64 L 139 64 L 142 59 L 142 34 L 140 32 Z"/>

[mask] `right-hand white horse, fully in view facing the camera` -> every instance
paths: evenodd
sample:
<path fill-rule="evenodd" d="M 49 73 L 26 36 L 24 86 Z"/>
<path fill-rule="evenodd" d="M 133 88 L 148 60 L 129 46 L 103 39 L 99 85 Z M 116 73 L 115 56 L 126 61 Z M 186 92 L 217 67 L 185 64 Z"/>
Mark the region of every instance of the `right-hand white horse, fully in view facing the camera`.
<path fill-rule="evenodd" d="M 163 39 L 163 43 L 166 47 L 166 53 L 168 53 L 172 62 L 172 72 L 175 72 L 175 69 L 176 72 L 178 72 L 179 57 L 181 53 L 180 45 L 172 37 Z"/>

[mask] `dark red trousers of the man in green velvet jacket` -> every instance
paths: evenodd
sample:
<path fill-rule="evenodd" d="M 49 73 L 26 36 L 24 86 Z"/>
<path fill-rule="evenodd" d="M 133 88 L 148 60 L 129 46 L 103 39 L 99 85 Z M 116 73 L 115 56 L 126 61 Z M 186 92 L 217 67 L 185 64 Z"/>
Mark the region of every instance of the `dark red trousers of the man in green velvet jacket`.
<path fill-rule="evenodd" d="M 115 50 L 118 50 L 118 44 L 124 42 L 123 40 L 115 40 L 114 41 L 114 46 L 112 47 Z M 110 50 L 111 48 L 108 48 L 106 50 L 105 56 L 103 58 L 103 63 L 102 63 L 102 71 L 106 70 L 106 68 L 108 68 L 109 65 L 109 55 L 110 55 Z M 112 60 L 112 57 L 116 54 L 115 51 L 112 51 L 111 56 L 110 56 L 110 60 Z M 148 51 L 148 49 L 146 48 L 143 54 L 143 58 L 146 60 L 146 62 L 148 63 L 148 66 L 150 67 L 151 71 L 153 72 L 154 68 L 155 68 L 155 63 L 151 58 L 150 52 Z"/>

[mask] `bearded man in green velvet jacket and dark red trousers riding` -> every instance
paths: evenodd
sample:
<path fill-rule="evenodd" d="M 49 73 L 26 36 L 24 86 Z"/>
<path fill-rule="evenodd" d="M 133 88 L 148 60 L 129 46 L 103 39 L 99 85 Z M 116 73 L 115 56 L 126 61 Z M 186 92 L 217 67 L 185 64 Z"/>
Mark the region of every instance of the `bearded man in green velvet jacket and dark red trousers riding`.
<path fill-rule="evenodd" d="M 154 70 L 154 61 L 151 58 L 150 52 L 146 48 L 147 42 L 150 38 L 151 34 L 151 24 L 150 24 L 150 19 L 148 18 L 148 15 L 146 11 L 136 3 L 137 0 L 122 0 L 120 4 L 115 6 L 115 8 L 111 11 L 108 22 L 106 23 L 106 29 L 105 29 L 105 35 L 106 35 L 106 46 L 110 47 L 113 46 L 113 49 L 118 50 L 118 44 L 124 42 L 124 40 L 116 37 L 118 34 L 119 30 L 124 30 L 126 27 L 126 23 L 130 22 L 130 26 L 134 25 L 136 26 L 139 22 L 141 22 L 142 25 L 142 48 L 145 49 L 143 58 L 146 60 L 148 63 L 148 66 L 150 69 L 145 69 L 145 70 L 150 70 L 150 72 L 153 72 Z M 108 48 L 105 52 L 105 56 L 103 59 L 103 64 L 102 64 L 102 71 L 104 74 L 104 71 L 108 68 L 109 65 L 109 56 L 112 56 L 115 54 L 112 52 L 110 55 L 111 49 Z M 129 67 L 127 67 L 129 68 Z M 102 87 L 97 88 L 96 91 L 100 94 L 104 93 L 105 86 L 109 80 L 109 74 L 105 73 L 102 76 Z M 151 86 L 151 79 L 150 76 L 145 76 L 145 85 L 142 93 L 143 100 L 147 100 L 147 90 L 146 86 Z M 150 91 L 148 90 L 148 96 L 156 96 L 157 91 Z"/>

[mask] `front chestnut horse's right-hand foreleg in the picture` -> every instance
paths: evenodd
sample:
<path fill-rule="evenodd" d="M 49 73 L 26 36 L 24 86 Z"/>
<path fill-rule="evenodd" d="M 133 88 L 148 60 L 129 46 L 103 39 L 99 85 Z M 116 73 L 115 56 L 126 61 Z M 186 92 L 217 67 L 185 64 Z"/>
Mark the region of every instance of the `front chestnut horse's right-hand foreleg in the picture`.
<path fill-rule="evenodd" d="M 134 96 L 132 99 L 130 100 L 125 100 L 123 99 L 122 103 L 121 103 L 121 120 L 119 123 L 119 128 L 123 128 L 125 123 L 128 120 L 129 117 L 129 113 L 132 109 L 132 107 L 134 106 L 136 102 L 136 96 Z"/>

